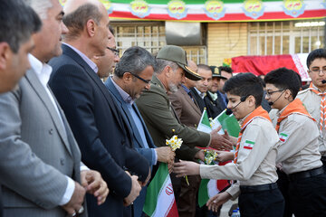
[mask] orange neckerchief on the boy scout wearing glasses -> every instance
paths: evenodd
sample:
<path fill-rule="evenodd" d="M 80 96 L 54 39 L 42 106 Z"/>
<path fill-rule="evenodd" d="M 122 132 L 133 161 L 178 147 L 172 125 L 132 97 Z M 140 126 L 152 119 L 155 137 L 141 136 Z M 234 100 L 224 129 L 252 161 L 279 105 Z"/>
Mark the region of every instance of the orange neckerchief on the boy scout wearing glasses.
<path fill-rule="evenodd" d="M 312 116 L 308 113 L 307 109 L 304 108 L 302 104 L 302 100 L 300 99 L 294 99 L 292 102 L 290 102 L 289 105 L 282 111 L 280 114 L 280 117 L 277 118 L 277 124 L 276 124 L 276 131 L 278 132 L 280 129 L 280 124 L 283 121 L 283 119 L 288 118 L 291 114 L 301 114 L 303 116 L 307 116 L 308 118 L 312 118 Z M 313 121 L 316 121 L 314 118 L 312 118 Z"/>

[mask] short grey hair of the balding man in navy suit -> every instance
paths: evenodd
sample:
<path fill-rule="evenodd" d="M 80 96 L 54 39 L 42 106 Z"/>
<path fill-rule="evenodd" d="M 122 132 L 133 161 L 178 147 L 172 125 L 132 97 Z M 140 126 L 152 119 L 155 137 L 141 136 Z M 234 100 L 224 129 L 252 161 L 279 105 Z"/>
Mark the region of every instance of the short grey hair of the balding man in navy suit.
<path fill-rule="evenodd" d="M 74 39 L 78 37 L 89 20 L 92 19 L 95 24 L 100 24 L 101 18 L 102 14 L 97 5 L 81 5 L 72 13 L 63 16 L 63 23 L 69 29 L 65 38 Z"/>

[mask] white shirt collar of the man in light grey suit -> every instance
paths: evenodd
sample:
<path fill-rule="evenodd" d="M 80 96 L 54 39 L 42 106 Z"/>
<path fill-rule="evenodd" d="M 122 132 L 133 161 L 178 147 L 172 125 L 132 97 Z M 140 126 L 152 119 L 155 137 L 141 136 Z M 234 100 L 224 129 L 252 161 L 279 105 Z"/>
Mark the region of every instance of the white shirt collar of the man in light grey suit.
<path fill-rule="evenodd" d="M 47 63 L 39 61 L 31 53 L 28 54 L 28 60 L 30 61 L 31 67 L 35 71 L 37 78 L 41 81 L 43 86 L 46 86 L 53 71 L 52 67 Z"/>

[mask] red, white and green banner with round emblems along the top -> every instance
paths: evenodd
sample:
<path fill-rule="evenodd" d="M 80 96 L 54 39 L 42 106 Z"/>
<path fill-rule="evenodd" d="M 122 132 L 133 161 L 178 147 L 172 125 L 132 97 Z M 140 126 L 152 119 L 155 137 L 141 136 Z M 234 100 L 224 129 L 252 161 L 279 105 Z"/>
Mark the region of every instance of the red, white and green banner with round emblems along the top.
<path fill-rule="evenodd" d="M 67 0 L 60 0 L 62 5 Z M 325 0 L 101 0 L 112 20 L 243 22 L 326 16 Z"/>

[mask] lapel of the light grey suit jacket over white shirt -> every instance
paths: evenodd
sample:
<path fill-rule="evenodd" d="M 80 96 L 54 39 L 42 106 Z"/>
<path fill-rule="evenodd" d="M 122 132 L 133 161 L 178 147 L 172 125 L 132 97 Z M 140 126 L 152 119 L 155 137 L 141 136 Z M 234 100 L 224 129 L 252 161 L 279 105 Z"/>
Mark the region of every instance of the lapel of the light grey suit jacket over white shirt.
<path fill-rule="evenodd" d="M 46 90 L 44 90 L 43 85 L 41 84 L 40 80 L 38 80 L 35 72 L 33 70 L 29 70 L 26 72 L 26 80 L 31 84 L 32 88 L 38 95 L 38 97 L 43 101 L 44 107 L 49 111 L 51 118 L 53 119 L 54 126 L 56 127 L 57 131 L 59 132 L 60 137 L 64 145 L 66 146 L 70 155 L 72 155 L 72 150 L 68 142 L 67 134 L 62 126 L 62 122 L 60 117 L 58 117 L 58 113 L 53 106 L 53 102 L 49 98 Z M 55 97 L 53 96 L 53 99 Z M 58 104 L 57 104 L 58 106 Z"/>

